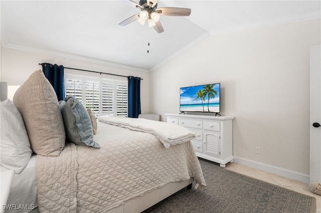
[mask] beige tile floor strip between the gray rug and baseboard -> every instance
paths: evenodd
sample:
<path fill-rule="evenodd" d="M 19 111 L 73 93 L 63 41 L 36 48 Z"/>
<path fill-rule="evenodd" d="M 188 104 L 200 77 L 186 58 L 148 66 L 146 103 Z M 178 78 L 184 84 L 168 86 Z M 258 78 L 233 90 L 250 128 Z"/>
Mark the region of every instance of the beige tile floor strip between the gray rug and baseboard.
<path fill-rule="evenodd" d="M 275 185 L 282 186 L 287 189 L 291 189 L 293 191 L 297 191 L 299 193 L 314 196 L 316 198 L 316 213 L 321 213 L 321 195 L 317 195 L 311 192 L 307 183 L 299 182 L 276 174 L 268 173 L 266 171 L 261 171 L 255 168 L 247 167 L 245 165 L 241 165 L 235 162 L 227 163 L 225 168 L 247 176 L 261 179 L 263 181 Z"/>

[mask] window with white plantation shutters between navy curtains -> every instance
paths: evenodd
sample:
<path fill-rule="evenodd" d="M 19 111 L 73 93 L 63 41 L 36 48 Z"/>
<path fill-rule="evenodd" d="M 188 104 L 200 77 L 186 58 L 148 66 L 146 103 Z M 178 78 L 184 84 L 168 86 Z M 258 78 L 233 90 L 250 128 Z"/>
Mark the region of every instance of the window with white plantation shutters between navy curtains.
<path fill-rule="evenodd" d="M 127 117 L 127 81 L 65 74 L 65 94 L 74 95 L 97 116 Z"/>

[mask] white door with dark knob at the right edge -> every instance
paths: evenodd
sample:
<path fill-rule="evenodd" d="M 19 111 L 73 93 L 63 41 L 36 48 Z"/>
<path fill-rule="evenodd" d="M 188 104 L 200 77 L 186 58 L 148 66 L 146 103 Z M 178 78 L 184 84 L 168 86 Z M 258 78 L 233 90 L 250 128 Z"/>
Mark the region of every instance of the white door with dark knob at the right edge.
<path fill-rule="evenodd" d="M 310 182 L 321 183 L 321 45 L 310 47 Z"/>

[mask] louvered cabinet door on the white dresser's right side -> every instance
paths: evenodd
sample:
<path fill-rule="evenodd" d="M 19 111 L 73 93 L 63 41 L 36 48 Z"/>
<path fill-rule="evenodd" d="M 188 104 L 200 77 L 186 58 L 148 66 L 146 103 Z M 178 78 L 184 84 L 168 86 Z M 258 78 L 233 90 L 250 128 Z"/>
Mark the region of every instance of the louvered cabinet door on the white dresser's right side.
<path fill-rule="evenodd" d="M 220 156 L 220 133 L 204 131 L 205 148 L 204 153 L 213 156 Z"/>

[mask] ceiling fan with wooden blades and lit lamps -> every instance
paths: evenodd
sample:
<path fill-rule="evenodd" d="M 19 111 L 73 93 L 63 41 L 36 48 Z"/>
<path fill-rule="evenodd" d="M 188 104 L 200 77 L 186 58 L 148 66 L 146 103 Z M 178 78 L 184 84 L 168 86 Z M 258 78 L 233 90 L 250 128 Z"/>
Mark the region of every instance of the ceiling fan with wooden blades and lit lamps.
<path fill-rule="evenodd" d="M 149 27 L 153 27 L 158 33 L 164 32 L 164 28 L 159 22 L 160 15 L 169 16 L 189 16 L 191 14 L 191 9 L 181 8 L 181 7 L 160 7 L 157 8 L 157 0 L 140 0 L 136 3 L 133 0 L 129 0 L 131 5 L 140 9 L 138 14 L 135 14 L 122 22 L 119 23 L 121 26 L 125 26 L 135 20 L 137 20 L 141 25 L 148 22 Z"/>

